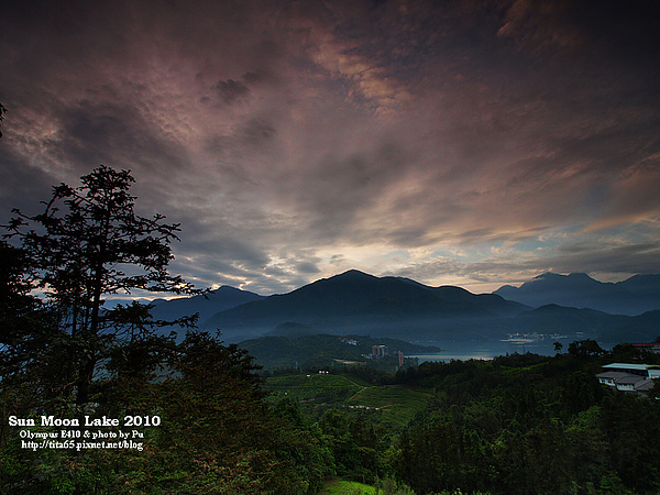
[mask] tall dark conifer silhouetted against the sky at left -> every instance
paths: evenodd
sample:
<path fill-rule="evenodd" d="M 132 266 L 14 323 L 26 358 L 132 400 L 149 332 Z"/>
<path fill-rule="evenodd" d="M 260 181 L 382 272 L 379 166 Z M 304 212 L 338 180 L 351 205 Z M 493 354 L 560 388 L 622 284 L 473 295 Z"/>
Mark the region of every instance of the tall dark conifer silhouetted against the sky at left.
<path fill-rule="evenodd" d="M 53 308 L 68 360 L 62 380 L 78 406 L 90 400 L 99 363 L 118 346 L 134 348 L 154 328 L 175 323 L 152 320 L 139 304 L 106 309 L 106 296 L 134 289 L 196 293 L 166 270 L 179 224 L 164 223 L 162 215 L 138 216 L 129 194 L 133 182 L 129 170 L 101 165 L 82 176 L 79 187 L 55 186 L 51 200 L 42 202 L 42 213 L 14 209 L 15 217 L 6 226 L 6 237 L 18 239 L 30 260 L 31 287 L 42 290 Z"/>

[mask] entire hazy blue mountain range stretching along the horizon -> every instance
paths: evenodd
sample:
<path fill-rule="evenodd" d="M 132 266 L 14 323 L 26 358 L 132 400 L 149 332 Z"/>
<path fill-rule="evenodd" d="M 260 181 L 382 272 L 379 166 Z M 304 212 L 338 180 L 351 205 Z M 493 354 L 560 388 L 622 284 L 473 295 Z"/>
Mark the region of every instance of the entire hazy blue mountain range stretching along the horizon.
<path fill-rule="evenodd" d="M 584 274 L 544 274 L 520 288 L 505 286 L 494 294 L 477 295 L 460 287 L 431 287 L 353 270 L 268 297 L 223 286 L 206 298 L 157 301 L 153 314 L 167 319 L 198 311 L 200 328 L 220 329 L 228 342 L 309 332 L 407 341 L 503 339 L 516 332 L 576 334 L 613 342 L 652 340 L 660 334 L 660 311 L 631 316 L 622 309 L 632 311 L 624 304 L 635 299 L 630 294 L 644 309 L 660 301 L 658 276 L 630 280 L 603 284 Z M 617 298 L 617 294 L 622 296 Z M 614 309 L 601 310 L 603 301 Z"/>

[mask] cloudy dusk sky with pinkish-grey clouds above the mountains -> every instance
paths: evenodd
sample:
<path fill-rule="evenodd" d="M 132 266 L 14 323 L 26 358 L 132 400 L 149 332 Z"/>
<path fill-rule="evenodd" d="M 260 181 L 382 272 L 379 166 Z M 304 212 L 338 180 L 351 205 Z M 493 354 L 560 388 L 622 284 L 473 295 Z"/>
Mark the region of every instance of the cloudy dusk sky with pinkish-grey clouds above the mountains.
<path fill-rule="evenodd" d="M 0 222 L 130 169 L 170 273 L 286 293 L 356 268 L 487 293 L 660 273 L 650 0 L 0 7 Z"/>

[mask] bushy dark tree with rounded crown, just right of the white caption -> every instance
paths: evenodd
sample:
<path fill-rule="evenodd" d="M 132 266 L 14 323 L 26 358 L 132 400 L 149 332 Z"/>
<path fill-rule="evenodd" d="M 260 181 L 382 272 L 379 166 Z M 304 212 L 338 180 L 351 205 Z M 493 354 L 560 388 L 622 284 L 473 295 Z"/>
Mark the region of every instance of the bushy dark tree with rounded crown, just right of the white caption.
<path fill-rule="evenodd" d="M 188 332 L 169 365 L 176 373 L 150 384 L 134 403 L 146 407 L 136 414 L 156 409 L 163 422 L 152 429 L 142 475 L 128 477 L 121 493 L 288 495 L 322 488 L 329 455 L 320 432 L 268 407 L 246 351 Z M 125 470 L 122 459 L 112 470 Z"/>

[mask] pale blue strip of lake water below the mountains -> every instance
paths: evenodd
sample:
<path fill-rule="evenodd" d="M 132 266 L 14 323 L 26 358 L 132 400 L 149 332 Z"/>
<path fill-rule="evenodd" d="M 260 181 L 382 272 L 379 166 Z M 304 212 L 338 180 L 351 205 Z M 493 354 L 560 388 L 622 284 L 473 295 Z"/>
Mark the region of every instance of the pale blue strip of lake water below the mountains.
<path fill-rule="evenodd" d="M 541 355 L 554 355 L 554 342 L 559 342 L 563 345 L 561 352 L 566 352 L 569 344 L 575 338 L 560 338 L 560 339 L 539 339 L 539 340 L 492 340 L 492 341 L 417 341 L 414 343 L 421 345 L 435 345 L 442 349 L 438 353 L 429 354 L 411 354 L 407 358 L 417 358 L 420 363 L 425 361 L 451 361 L 451 360 L 492 360 L 498 355 L 506 354 L 525 354 L 531 352 Z M 612 344 L 605 344 L 600 342 L 603 349 L 612 349 Z"/>

